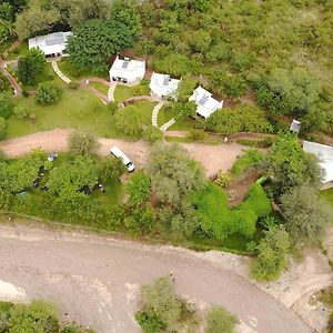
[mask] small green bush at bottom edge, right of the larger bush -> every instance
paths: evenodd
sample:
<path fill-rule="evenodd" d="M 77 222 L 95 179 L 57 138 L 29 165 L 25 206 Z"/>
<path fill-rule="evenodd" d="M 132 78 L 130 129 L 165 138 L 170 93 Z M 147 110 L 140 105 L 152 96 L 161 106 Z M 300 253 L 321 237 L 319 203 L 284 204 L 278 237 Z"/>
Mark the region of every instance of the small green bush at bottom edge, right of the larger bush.
<path fill-rule="evenodd" d="M 208 310 L 205 321 L 204 333 L 233 333 L 238 323 L 236 316 L 219 305 L 212 305 Z"/>

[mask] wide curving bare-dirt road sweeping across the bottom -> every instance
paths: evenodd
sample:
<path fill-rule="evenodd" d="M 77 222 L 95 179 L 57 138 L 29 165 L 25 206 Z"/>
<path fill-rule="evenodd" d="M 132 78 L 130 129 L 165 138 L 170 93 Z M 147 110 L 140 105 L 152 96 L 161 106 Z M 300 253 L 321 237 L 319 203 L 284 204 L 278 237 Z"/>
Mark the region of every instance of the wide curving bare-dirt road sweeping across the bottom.
<path fill-rule="evenodd" d="M 133 320 L 139 285 L 171 270 L 179 293 L 225 306 L 252 329 L 248 332 L 311 332 L 292 310 L 194 252 L 0 226 L 0 280 L 22 289 L 28 299 L 57 302 L 69 312 L 64 319 L 98 332 L 140 332 Z"/>

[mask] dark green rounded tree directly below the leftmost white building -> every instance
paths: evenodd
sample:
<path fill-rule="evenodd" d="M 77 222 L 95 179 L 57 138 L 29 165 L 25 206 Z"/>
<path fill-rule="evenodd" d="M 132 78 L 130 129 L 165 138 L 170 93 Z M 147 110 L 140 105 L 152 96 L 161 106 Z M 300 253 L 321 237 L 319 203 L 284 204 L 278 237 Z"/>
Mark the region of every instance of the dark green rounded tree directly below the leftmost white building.
<path fill-rule="evenodd" d="M 24 85 L 36 83 L 38 75 L 42 74 L 47 61 L 44 53 L 39 49 L 31 49 L 28 53 L 19 58 L 18 78 Z"/>

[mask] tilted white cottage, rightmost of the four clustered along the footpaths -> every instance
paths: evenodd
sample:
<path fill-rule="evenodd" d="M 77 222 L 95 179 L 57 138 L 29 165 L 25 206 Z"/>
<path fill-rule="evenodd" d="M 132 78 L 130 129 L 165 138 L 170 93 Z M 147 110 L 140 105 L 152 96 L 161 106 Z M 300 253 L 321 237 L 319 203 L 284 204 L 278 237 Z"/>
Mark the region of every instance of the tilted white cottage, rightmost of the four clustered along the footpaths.
<path fill-rule="evenodd" d="M 212 113 L 223 107 L 223 101 L 216 101 L 211 92 L 200 85 L 193 91 L 189 101 L 194 101 L 196 103 L 196 113 L 204 119 L 208 119 Z"/>

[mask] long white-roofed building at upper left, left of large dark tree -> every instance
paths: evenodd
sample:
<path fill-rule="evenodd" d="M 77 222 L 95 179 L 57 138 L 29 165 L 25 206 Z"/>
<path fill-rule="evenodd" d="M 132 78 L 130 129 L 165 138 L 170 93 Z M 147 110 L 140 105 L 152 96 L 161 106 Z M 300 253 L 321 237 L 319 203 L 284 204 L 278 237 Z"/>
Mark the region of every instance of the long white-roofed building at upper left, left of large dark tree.
<path fill-rule="evenodd" d="M 71 31 L 53 32 L 29 39 L 29 50 L 40 49 L 46 56 L 62 54 L 65 50 L 67 39 L 72 36 Z"/>

